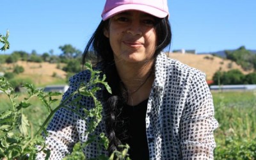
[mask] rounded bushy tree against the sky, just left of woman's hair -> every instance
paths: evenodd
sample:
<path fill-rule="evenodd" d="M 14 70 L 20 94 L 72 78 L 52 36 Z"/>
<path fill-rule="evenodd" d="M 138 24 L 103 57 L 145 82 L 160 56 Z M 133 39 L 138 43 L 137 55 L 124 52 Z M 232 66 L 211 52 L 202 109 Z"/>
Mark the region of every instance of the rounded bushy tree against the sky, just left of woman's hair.
<path fill-rule="evenodd" d="M 79 51 L 78 49 L 76 49 L 70 44 L 60 46 L 59 49 L 61 49 L 62 51 L 61 56 L 65 58 L 77 58 L 82 54 L 81 51 Z"/>

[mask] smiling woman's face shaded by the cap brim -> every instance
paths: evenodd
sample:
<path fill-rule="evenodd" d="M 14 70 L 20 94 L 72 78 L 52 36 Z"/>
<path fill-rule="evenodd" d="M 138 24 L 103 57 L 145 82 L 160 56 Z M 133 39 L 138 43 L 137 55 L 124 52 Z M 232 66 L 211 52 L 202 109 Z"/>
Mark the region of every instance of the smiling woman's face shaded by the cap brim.
<path fill-rule="evenodd" d="M 154 60 L 155 24 L 152 15 L 133 10 L 112 17 L 104 35 L 109 38 L 115 61 L 138 63 Z"/>

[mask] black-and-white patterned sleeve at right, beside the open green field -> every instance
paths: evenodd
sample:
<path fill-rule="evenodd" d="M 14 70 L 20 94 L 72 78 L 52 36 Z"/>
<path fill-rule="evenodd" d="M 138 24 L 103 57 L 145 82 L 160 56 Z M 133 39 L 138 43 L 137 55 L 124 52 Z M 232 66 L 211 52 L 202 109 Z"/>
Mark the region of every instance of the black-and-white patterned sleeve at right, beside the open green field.
<path fill-rule="evenodd" d="M 213 131 L 218 127 L 209 86 L 202 73 L 191 80 L 186 106 L 180 120 L 182 159 L 213 159 Z"/>

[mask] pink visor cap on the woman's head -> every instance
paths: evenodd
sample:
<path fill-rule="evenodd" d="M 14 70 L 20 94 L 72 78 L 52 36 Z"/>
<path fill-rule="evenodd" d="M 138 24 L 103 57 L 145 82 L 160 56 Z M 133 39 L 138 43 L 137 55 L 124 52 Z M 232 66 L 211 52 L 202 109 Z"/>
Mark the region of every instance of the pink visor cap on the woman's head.
<path fill-rule="evenodd" d="M 106 0 L 102 20 L 126 10 L 138 10 L 159 18 L 169 15 L 167 0 Z"/>

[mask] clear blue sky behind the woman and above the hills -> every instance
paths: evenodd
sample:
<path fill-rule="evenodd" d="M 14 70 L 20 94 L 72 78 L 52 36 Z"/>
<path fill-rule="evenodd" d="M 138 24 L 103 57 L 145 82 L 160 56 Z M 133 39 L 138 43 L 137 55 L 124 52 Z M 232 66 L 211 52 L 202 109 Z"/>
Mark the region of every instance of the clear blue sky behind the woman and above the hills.
<path fill-rule="evenodd" d="M 1 0 L 0 33 L 13 51 L 39 54 L 71 44 L 83 51 L 99 24 L 104 0 Z M 256 49 L 255 0 L 168 0 L 173 49 L 215 52 Z"/>

